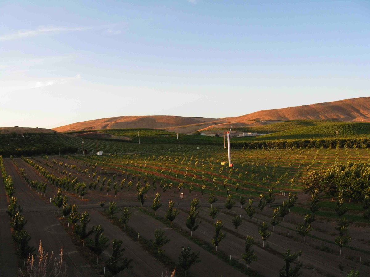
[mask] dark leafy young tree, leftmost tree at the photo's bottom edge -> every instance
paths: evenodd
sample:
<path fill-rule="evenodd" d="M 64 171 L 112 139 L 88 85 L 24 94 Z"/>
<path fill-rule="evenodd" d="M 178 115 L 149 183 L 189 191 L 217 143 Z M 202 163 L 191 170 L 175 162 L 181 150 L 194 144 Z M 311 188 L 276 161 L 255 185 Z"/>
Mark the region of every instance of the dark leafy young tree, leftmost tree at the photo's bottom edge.
<path fill-rule="evenodd" d="M 122 246 L 122 240 L 112 240 L 112 255 L 107 260 L 106 266 L 108 271 L 113 275 L 117 275 L 122 270 L 132 267 L 130 263 L 132 262 L 132 259 L 123 258 L 123 252 L 125 251 L 125 248 L 121 248 Z"/>

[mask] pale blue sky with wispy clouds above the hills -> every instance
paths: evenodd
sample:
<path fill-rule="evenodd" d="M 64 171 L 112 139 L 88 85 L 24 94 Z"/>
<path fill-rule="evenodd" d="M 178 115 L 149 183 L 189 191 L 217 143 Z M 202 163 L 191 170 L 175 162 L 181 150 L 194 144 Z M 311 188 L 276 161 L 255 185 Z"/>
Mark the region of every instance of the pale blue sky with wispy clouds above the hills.
<path fill-rule="evenodd" d="M 369 1 L 1 1 L 0 127 L 370 96 Z"/>

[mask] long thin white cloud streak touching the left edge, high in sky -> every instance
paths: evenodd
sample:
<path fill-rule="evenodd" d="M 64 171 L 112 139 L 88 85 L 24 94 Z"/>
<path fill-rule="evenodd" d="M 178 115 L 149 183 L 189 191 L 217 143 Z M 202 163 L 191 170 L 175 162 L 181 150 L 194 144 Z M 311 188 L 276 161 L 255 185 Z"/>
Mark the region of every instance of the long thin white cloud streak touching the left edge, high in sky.
<path fill-rule="evenodd" d="M 22 30 L 22 31 L 16 31 L 13 34 L 0 35 L 0 41 L 19 40 L 21 38 L 35 37 L 37 35 L 56 34 L 60 32 L 68 32 L 68 31 L 84 31 L 88 29 L 91 29 L 91 27 L 73 27 L 73 28 L 40 27 L 35 30 Z"/>

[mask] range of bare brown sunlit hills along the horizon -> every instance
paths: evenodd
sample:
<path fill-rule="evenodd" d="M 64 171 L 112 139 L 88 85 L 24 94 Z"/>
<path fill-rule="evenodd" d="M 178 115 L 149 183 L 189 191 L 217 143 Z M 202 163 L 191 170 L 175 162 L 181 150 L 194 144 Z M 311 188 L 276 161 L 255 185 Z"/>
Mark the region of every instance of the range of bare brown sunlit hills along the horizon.
<path fill-rule="evenodd" d="M 99 129 L 150 128 L 191 133 L 212 127 L 256 126 L 281 120 L 329 119 L 340 121 L 370 122 L 370 97 L 317 103 L 283 109 L 262 110 L 238 117 L 221 119 L 182 116 L 119 116 L 73 123 L 53 130 L 58 132 L 88 131 Z"/>

